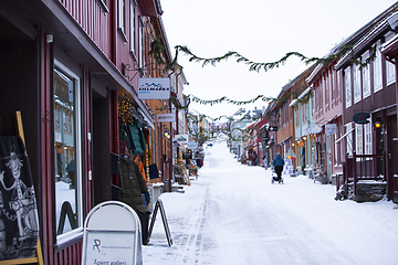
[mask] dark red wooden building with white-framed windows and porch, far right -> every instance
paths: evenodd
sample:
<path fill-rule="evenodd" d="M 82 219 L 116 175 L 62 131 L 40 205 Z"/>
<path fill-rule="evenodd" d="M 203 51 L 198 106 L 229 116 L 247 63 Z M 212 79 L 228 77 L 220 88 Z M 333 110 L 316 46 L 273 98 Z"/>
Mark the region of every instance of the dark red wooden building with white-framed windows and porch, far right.
<path fill-rule="evenodd" d="M 342 76 L 345 162 L 350 168 L 348 159 L 357 161 L 357 179 L 385 180 L 388 199 L 396 192 L 397 85 L 395 64 L 380 49 L 396 35 L 388 20 L 397 9 L 396 3 L 365 25 L 366 34 L 335 65 Z"/>

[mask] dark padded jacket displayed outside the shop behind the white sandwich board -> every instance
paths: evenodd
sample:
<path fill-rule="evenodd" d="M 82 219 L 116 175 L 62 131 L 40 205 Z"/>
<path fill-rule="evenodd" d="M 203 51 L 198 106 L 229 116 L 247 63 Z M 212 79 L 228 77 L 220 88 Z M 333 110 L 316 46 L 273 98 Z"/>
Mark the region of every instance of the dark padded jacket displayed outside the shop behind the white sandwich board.
<path fill-rule="evenodd" d="M 121 201 L 140 213 L 150 213 L 143 203 L 142 194 L 147 191 L 146 183 L 137 163 L 129 157 L 121 157 Z"/>

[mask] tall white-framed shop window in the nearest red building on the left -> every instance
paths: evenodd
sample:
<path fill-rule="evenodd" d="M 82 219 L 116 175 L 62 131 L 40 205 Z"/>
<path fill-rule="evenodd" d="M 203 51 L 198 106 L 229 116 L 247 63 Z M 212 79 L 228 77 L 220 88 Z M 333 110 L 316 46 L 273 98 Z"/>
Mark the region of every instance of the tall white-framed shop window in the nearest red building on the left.
<path fill-rule="evenodd" d="M 83 224 L 80 102 L 80 78 L 55 62 L 53 159 L 57 243 L 73 232 L 81 232 Z M 72 222 L 69 210 L 73 213 Z"/>

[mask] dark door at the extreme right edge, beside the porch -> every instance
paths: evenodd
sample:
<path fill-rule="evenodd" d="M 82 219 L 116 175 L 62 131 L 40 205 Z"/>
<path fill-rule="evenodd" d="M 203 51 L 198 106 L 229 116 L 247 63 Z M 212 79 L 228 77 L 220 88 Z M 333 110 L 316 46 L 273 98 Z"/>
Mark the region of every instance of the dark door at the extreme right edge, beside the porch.
<path fill-rule="evenodd" d="M 398 203 L 398 131 L 397 115 L 387 116 L 388 198 Z"/>

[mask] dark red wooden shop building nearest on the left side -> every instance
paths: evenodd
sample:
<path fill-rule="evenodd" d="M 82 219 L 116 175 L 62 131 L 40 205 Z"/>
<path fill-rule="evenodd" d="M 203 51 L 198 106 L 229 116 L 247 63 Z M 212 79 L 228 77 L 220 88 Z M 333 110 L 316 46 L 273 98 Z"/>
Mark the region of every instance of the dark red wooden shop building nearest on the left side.
<path fill-rule="evenodd" d="M 133 103 L 153 162 L 163 162 L 163 128 L 137 96 L 151 38 L 167 42 L 161 12 L 156 0 L 0 2 L 0 134 L 17 134 L 21 110 L 45 264 L 81 264 L 84 219 L 112 199 L 121 98 Z"/>

